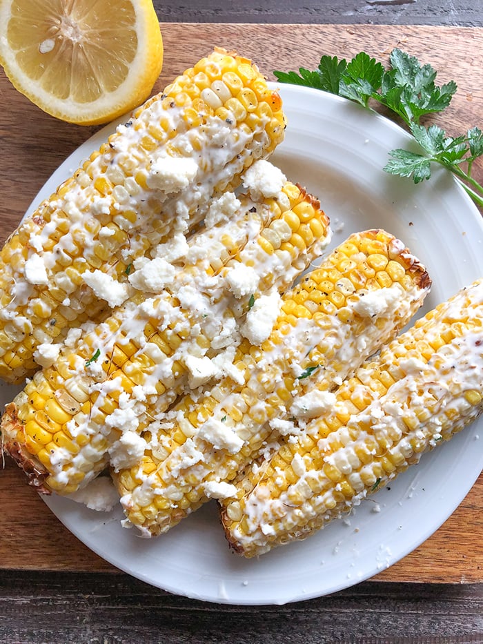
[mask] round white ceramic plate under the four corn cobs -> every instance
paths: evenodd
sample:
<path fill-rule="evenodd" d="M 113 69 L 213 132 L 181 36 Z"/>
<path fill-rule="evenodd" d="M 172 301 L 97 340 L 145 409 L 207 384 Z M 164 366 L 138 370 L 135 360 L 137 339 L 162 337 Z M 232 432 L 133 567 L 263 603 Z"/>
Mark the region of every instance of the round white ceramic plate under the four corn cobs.
<path fill-rule="evenodd" d="M 414 186 L 382 171 L 388 150 L 411 145 L 408 135 L 379 115 L 317 90 L 282 86 L 281 93 L 288 128 L 273 160 L 292 181 L 320 197 L 335 230 L 332 246 L 366 228 L 384 227 L 400 237 L 433 278 L 425 311 L 483 275 L 483 219 L 453 178 L 435 168 L 431 182 Z M 112 128 L 67 159 L 34 204 L 98 148 Z M 3 389 L 2 398 L 7 391 Z M 426 454 L 420 466 L 347 520 L 258 560 L 244 560 L 228 550 L 214 503 L 166 536 L 145 540 L 119 525 L 120 510 L 102 515 L 57 496 L 46 502 L 90 549 L 152 585 L 219 603 L 282 604 L 351 586 L 420 545 L 480 474 L 479 434 L 483 419 Z"/>

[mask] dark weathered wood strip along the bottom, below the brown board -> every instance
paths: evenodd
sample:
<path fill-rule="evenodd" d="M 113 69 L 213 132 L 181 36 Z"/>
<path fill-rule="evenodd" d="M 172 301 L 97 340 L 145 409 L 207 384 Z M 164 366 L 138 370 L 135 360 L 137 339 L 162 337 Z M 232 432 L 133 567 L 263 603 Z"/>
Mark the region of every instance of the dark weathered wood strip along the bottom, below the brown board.
<path fill-rule="evenodd" d="M 0 615 L 0 641 L 22 644 L 481 644 L 483 586 L 372 582 L 284 606 L 230 606 L 127 575 L 0 572 Z"/>

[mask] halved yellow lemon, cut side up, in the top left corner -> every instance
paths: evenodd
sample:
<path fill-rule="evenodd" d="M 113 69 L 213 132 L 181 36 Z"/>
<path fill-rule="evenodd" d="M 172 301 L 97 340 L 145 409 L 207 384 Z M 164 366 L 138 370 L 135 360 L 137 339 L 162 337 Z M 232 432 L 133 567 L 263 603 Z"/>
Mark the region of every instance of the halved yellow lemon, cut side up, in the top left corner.
<path fill-rule="evenodd" d="M 162 62 L 151 0 L 0 0 L 0 63 L 64 121 L 96 125 L 135 108 Z"/>

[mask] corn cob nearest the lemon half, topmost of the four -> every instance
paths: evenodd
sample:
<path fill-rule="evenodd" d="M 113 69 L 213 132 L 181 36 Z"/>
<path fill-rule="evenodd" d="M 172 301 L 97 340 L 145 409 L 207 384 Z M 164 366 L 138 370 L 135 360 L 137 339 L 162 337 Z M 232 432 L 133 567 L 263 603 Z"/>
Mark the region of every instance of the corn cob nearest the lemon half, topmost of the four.
<path fill-rule="evenodd" d="M 126 267 L 199 221 L 284 136 L 282 104 L 250 61 L 216 50 L 139 108 L 10 236 L 0 255 L 0 378 L 39 344 L 121 304 Z M 99 273 L 112 281 L 97 288 Z"/>

